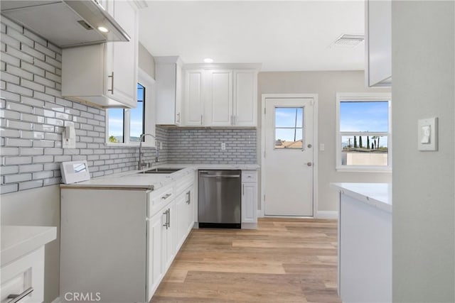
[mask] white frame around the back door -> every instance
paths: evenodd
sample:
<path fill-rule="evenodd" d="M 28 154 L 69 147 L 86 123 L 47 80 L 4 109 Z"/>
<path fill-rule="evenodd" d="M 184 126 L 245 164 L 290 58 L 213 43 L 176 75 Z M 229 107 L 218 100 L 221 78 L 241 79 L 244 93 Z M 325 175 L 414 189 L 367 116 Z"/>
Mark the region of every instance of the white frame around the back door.
<path fill-rule="evenodd" d="M 264 217 L 265 211 L 265 101 L 266 99 L 284 99 L 284 98 L 312 98 L 314 101 L 313 104 L 313 218 L 316 218 L 318 213 L 318 94 L 262 94 L 262 105 L 261 105 L 261 210 L 259 211 L 259 216 Z M 277 216 L 272 216 L 277 217 Z M 308 218 L 308 217 L 307 217 Z M 310 217 L 311 218 L 311 217 Z"/>

